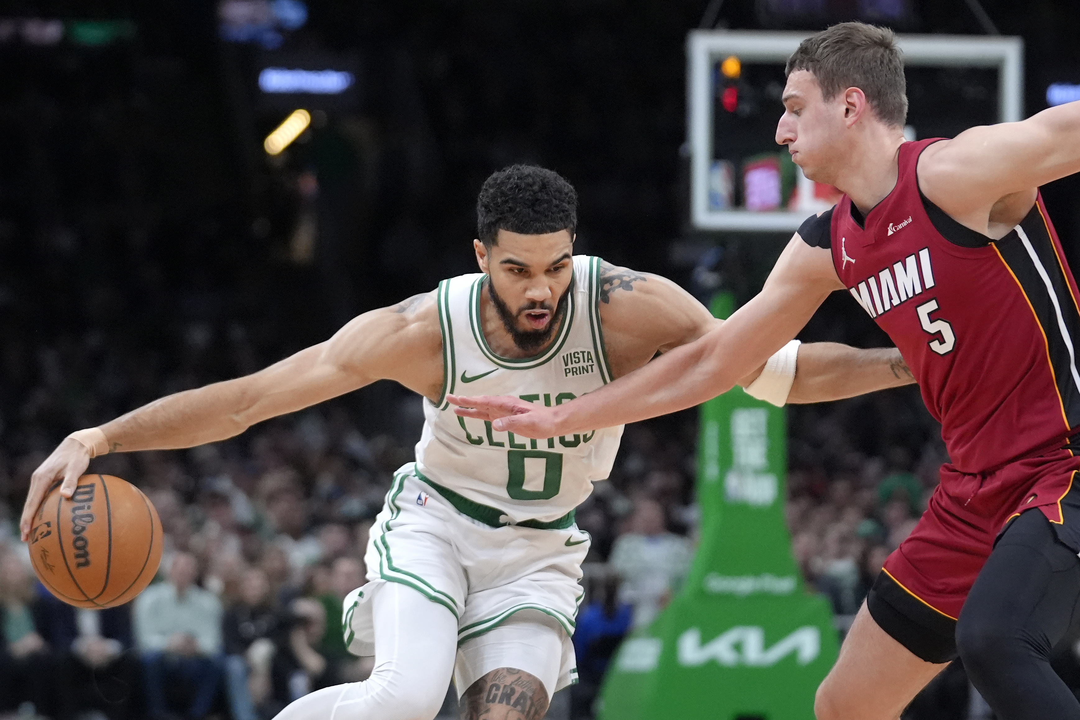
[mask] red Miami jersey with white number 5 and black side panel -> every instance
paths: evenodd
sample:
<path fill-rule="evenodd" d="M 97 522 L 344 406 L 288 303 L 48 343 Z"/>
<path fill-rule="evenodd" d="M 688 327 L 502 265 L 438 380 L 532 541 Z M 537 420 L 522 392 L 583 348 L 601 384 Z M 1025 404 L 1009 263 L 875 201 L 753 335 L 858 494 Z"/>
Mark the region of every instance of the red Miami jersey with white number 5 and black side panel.
<path fill-rule="evenodd" d="M 901 146 L 896 186 L 864 222 L 841 198 L 829 245 L 915 373 L 953 465 L 984 473 L 1061 447 L 1080 425 L 1080 305 L 1041 195 L 994 242 L 922 196 L 916 164 L 939 139 Z"/>

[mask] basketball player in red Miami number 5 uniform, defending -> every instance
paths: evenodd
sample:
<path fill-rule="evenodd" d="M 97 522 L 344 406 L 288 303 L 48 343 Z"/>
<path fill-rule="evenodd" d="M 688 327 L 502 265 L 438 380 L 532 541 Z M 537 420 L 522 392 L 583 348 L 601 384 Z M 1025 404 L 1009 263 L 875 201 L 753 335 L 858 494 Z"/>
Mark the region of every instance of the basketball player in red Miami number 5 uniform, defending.
<path fill-rule="evenodd" d="M 959 655 L 999 720 L 1080 718 L 1048 655 L 1080 601 L 1080 307 L 1038 187 L 1080 171 L 1080 103 L 906 142 L 892 32 L 845 23 L 787 63 L 777 141 L 845 195 L 721 327 L 559 407 L 453 398 L 551 437 L 730 389 L 848 290 L 896 343 L 950 463 L 818 691 L 820 720 L 894 720 Z"/>

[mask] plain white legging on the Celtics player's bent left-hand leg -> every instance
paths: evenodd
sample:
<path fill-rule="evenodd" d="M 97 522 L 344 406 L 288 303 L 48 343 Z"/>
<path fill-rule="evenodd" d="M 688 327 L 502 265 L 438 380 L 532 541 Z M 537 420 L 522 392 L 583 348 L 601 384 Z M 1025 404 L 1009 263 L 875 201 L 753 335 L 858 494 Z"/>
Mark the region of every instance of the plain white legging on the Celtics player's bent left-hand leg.
<path fill-rule="evenodd" d="M 401 583 L 382 583 L 372 603 L 372 677 L 316 690 L 274 720 L 432 720 L 438 714 L 457 654 L 457 619 Z"/>

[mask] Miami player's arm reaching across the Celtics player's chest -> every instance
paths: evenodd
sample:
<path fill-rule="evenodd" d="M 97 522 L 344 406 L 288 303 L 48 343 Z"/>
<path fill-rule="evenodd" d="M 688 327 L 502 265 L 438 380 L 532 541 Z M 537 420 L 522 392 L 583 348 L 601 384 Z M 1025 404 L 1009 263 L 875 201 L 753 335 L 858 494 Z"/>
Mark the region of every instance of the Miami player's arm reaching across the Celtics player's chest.
<path fill-rule="evenodd" d="M 725 323 L 615 382 L 557 407 L 483 399 L 478 411 L 507 415 L 495 426 L 543 438 L 636 422 L 698 405 L 752 376 L 795 337 L 826 296 L 841 288 L 831 253 L 796 234 L 761 293 Z M 610 354 L 609 349 L 609 354 Z M 451 402 L 462 398 L 451 398 Z"/>

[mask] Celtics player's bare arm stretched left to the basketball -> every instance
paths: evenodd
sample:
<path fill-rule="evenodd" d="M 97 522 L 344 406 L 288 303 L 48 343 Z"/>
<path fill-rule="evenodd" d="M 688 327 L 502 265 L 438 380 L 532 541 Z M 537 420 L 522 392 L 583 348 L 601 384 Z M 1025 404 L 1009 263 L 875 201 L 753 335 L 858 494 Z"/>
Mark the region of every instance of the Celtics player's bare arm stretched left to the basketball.
<path fill-rule="evenodd" d="M 342 395 L 380 379 L 437 395 L 442 338 L 434 294 L 364 313 L 329 340 L 258 372 L 157 399 L 80 431 L 60 443 L 35 471 L 23 508 L 26 540 L 45 491 L 63 479 L 70 497 L 90 459 L 105 452 L 189 448 L 239 435 L 257 422 Z"/>

